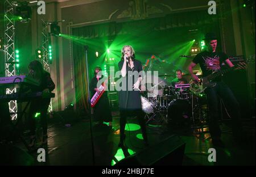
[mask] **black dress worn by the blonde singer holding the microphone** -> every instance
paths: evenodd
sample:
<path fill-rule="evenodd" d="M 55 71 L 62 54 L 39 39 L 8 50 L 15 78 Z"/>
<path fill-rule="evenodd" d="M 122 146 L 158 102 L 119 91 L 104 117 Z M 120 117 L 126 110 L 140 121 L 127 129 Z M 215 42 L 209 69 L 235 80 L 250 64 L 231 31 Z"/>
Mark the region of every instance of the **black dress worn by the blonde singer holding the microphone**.
<path fill-rule="evenodd" d="M 118 63 L 119 70 L 122 69 L 122 66 L 123 66 L 123 61 L 119 61 Z M 135 111 L 138 109 L 142 109 L 140 92 L 137 90 L 128 91 L 129 86 L 131 86 L 130 88 L 133 88 L 132 86 L 138 80 L 137 77 L 142 77 L 141 73 L 139 73 L 140 71 L 142 71 L 141 61 L 134 60 L 134 67 L 130 68 L 127 65 L 126 71 L 127 71 L 126 76 L 121 78 L 122 83 L 126 83 L 126 87 L 125 87 L 126 90 L 121 90 L 118 92 L 119 108 L 121 110 L 124 109 L 127 111 Z M 128 71 L 133 71 L 133 72 L 138 71 L 139 75 L 135 77 L 135 74 L 130 74 Z"/>

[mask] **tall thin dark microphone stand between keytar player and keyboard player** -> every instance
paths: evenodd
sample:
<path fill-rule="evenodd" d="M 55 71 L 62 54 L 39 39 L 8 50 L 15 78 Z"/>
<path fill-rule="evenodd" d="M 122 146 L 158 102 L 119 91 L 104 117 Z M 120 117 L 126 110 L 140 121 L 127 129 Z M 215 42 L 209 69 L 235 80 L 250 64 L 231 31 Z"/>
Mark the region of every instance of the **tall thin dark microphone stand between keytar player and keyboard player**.
<path fill-rule="evenodd" d="M 89 119 L 90 119 L 90 141 L 92 144 L 92 158 L 93 158 L 93 165 L 95 165 L 95 158 L 94 158 L 94 143 L 93 143 L 93 136 L 92 136 L 92 116 L 90 115 L 92 112 L 92 108 L 90 107 L 90 87 L 89 87 L 89 68 L 88 68 L 88 45 L 84 46 L 85 49 L 85 64 L 86 64 L 86 80 L 87 80 L 87 90 L 88 90 L 88 105 L 89 105 Z"/>

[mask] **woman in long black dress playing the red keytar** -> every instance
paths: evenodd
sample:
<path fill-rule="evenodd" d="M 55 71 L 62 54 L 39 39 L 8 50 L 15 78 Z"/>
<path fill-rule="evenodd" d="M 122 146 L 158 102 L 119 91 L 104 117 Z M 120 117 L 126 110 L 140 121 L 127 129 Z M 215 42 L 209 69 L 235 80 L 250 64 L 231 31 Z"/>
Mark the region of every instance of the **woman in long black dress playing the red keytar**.
<path fill-rule="evenodd" d="M 96 92 L 100 94 L 100 91 L 98 90 L 98 87 L 97 87 L 97 83 L 103 77 L 104 76 L 101 74 L 100 66 L 96 66 L 96 68 L 94 69 L 94 77 L 90 81 L 90 91 L 92 93 L 92 96 Z M 104 88 L 106 88 L 107 86 L 108 85 L 106 85 L 104 82 Z M 112 114 L 110 111 L 109 99 L 106 91 L 104 92 L 104 94 L 101 95 L 101 98 L 98 100 L 98 102 L 94 106 L 93 117 L 94 117 L 94 121 L 96 121 L 98 125 L 102 125 L 102 123 L 105 121 L 109 123 L 110 128 L 112 127 Z"/>

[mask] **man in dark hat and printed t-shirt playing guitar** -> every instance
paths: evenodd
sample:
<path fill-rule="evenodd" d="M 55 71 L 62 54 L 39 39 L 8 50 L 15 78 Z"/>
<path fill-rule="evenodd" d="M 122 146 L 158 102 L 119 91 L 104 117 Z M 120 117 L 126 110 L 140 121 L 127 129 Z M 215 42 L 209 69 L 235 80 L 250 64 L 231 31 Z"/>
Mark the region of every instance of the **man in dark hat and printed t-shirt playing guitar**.
<path fill-rule="evenodd" d="M 220 70 L 222 62 L 225 62 L 230 68 L 234 67 L 225 53 L 218 52 L 216 50 L 217 37 L 214 35 L 214 33 L 206 33 L 205 39 L 203 40 L 205 41 L 207 50 L 197 54 L 191 64 L 188 66 L 189 73 L 191 73 L 191 76 L 195 82 L 200 82 L 199 78 L 197 78 L 192 71 L 196 64 L 200 65 L 203 77 L 212 74 L 214 71 Z M 214 82 L 216 82 L 215 86 L 205 89 L 210 115 L 209 130 L 213 145 L 224 146 L 223 142 L 221 141 L 221 129 L 218 124 L 220 117 L 219 99 L 222 99 L 225 106 L 228 108 L 228 113 L 233 121 L 233 136 L 235 140 L 240 142 L 242 140 L 242 125 L 240 106 L 237 99 L 230 88 L 221 79 L 216 79 Z"/>

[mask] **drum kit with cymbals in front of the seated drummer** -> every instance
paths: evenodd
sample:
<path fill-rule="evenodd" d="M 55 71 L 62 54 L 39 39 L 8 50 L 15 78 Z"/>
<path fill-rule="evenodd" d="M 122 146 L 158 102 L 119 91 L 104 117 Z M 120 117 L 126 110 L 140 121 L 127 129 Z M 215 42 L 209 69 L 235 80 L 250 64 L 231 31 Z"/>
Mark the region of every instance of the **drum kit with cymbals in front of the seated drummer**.
<path fill-rule="evenodd" d="M 159 75 L 161 77 L 163 75 Z M 205 98 L 202 94 L 200 96 L 193 94 L 191 91 L 191 83 L 188 84 L 176 84 L 172 86 L 168 84 L 166 78 L 169 75 L 164 75 L 165 79 L 159 78 L 159 82 L 147 89 L 146 94 L 141 96 L 142 110 L 146 113 L 146 123 L 151 124 L 154 122 L 158 125 L 168 123 L 168 108 L 170 108 L 177 100 L 183 100 L 189 103 L 191 106 L 191 120 L 195 125 L 196 119 L 203 121 L 206 117 L 202 113 L 201 98 Z M 156 88 L 156 89 L 154 89 Z M 200 98 L 201 97 L 201 98 Z M 203 109 L 204 110 L 204 109 Z M 198 121 L 197 121 L 198 122 Z"/>

